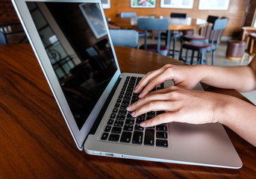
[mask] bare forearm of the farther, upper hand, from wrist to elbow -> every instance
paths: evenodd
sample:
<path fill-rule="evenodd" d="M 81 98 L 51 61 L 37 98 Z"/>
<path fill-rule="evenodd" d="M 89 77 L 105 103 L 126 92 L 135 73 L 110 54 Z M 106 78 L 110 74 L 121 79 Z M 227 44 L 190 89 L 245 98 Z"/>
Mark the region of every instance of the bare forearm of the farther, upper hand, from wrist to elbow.
<path fill-rule="evenodd" d="M 198 66 L 202 83 L 213 87 L 246 92 L 256 89 L 255 72 L 251 66 Z"/>

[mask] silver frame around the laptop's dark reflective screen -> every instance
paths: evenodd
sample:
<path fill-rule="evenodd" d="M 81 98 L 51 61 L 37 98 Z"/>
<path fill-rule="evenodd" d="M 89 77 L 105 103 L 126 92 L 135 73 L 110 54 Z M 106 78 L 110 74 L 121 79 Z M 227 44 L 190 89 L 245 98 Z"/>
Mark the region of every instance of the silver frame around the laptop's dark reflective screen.
<path fill-rule="evenodd" d="M 113 78 L 111 79 L 110 83 L 107 85 L 107 88 L 104 90 L 102 96 L 99 98 L 99 101 L 97 102 L 96 106 L 93 108 L 92 113 L 90 113 L 90 116 L 88 116 L 86 122 L 84 123 L 81 130 L 78 129 L 78 125 L 75 123 L 75 119 L 72 116 L 72 112 L 69 108 L 69 105 L 66 101 L 66 98 L 63 94 L 63 91 L 61 90 L 60 83 L 57 80 L 57 77 L 54 73 L 54 69 L 51 66 L 49 56 L 46 53 L 46 50 L 43 46 L 43 42 L 40 38 L 40 35 L 37 32 L 37 28 L 34 25 L 34 21 L 31 17 L 31 13 L 28 10 L 28 6 L 26 2 L 34 1 L 34 2 L 63 2 L 63 3 L 99 3 L 100 11 L 102 13 L 102 17 L 104 20 L 104 25 L 107 30 L 107 37 L 110 43 L 110 48 L 113 51 L 113 57 L 116 63 L 116 73 L 113 75 Z M 84 140 L 86 139 L 87 135 L 90 132 L 90 128 L 92 128 L 93 123 L 95 122 L 97 116 L 99 115 L 99 110 L 104 105 L 104 102 L 107 100 L 107 96 L 110 94 L 114 84 L 119 79 L 119 75 L 121 74 L 119 69 L 119 64 L 116 58 L 116 53 L 113 50 L 113 43 L 110 39 L 110 32 L 107 28 L 107 21 L 106 17 L 104 16 L 104 10 L 102 7 L 102 1 L 101 0 L 12 0 L 13 6 L 16 9 L 16 13 L 19 16 L 19 19 L 22 23 L 22 26 L 25 30 L 25 33 L 28 37 L 29 42 L 31 43 L 31 47 L 34 50 L 34 53 L 37 57 L 38 62 L 40 63 L 40 66 L 43 70 L 43 74 L 46 76 L 46 80 L 49 83 L 49 86 L 51 88 L 51 92 L 54 95 L 54 98 L 57 101 L 57 104 L 60 108 L 61 113 L 63 114 L 63 118 L 66 121 L 66 124 L 69 128 L 70 133 L 72 134 L 73 139 L 75 140 L 75 144 L 79 148 L 79 150 L 84 150 Z"/>

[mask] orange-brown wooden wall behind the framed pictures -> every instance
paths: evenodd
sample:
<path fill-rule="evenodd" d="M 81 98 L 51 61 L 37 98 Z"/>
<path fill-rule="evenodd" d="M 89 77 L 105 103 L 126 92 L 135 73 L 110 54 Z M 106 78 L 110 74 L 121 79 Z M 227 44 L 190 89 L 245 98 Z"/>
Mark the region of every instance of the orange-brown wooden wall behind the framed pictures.
<path fill-rule="evenodd" d="M 228 10 L 198 10 L 199 0 L 194 0 L 193 9 L 160 8 L 160 0 L 156 1 L 155 8 L 131 8 L 131 0 L 110 0 L 110 9 L 104 10 L 107 17 L 116 16 L 121 12 L 136 12 L 137 16 L 156 15 L 169 16 L 170 13 L 187 13 L 192 18 L 207 19 L 208 15 L 228 17 L 228 26 L 224 36 L 239 37 L 243 25 L 248 0 L 230 0 Z"/>

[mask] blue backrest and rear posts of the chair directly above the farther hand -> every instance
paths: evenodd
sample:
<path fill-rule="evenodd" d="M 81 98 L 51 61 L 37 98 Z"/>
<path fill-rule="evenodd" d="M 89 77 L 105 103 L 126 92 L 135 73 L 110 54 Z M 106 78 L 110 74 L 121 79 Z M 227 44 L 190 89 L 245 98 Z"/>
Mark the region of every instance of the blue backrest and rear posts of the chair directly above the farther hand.
<path fill-rule="evenodd" d="M 144 50 L 147 50 L 147 31 L 158 31 L 157 38 L 157 53 L 160 53 L 160 34 L 161 31 L 167 31 L 169 28 L 168 19 L 144 19 L 137 20 L 137 28 L 145 31 L 144 36 Z M 169 39 L 169 32 L 167 33 L 167 39 Z"/>

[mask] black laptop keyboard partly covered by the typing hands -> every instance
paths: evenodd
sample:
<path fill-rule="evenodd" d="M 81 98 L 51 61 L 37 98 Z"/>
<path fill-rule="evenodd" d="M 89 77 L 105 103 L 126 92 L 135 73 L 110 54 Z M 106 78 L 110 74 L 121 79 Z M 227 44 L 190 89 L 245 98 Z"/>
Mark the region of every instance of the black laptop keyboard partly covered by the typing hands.
<path fill-rule="evenodd" d="M 157 125 L 150 128 L 140 127 L 140 122 L 154 118 L 154 116 L 164 113 L 163 111 L 150 111 L 134 118 L 126 110 L 128 105 L 133 104 L 139 98 L 139 94 L 134 93 L 134 88 L 142 78 L 127 77 L 125 84 L 119 94 L 115 107 L 110 115 L 110 119 L 104 128 L 102 140 L 110 142 L 132 143 L 134 145 L 149 145 L 168 148 L 167 125 Z M 155 87 L 154 90 L 163 88 Z"/>

